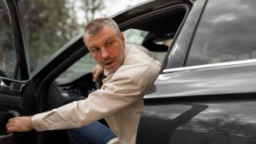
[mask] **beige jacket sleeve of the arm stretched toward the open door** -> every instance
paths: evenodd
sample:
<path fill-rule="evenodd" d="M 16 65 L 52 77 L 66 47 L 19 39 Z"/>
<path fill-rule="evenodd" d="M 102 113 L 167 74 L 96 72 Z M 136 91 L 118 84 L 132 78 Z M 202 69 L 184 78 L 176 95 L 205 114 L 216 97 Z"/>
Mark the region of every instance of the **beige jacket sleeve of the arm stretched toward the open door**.
<path fill-rule="evenodd" d="M 132 78 L 119 76 L 84 100 L 34 115 L 33 127 L 37 131 L 45 131 L 85 126 L 135 103 L 143 97 L 142 93 Z"/>

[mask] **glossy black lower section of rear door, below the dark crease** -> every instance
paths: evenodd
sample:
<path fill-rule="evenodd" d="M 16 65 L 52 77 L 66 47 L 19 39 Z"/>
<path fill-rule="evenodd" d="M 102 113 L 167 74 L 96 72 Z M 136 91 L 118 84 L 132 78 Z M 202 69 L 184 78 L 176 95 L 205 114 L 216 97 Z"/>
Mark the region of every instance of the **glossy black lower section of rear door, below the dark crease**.
<path fill-rule="evenodd" d="M 151 101 L 143 112 L 136 143 L 253 143 L 256 129 L 252 99 L 165 98 L 157 104 Z"/>

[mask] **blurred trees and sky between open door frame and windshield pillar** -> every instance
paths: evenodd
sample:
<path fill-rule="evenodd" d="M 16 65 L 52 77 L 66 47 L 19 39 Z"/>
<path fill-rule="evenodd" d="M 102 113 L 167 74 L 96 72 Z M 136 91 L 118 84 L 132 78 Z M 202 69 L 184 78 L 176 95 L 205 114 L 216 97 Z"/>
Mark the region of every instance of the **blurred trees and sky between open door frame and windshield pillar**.
<path fill-rule="evenodd" d="M 24 0 L 22 3 L 31 71 L 83 32 L 85 24 L 78 23 L 78 11 L 86 13 L 88 22 L 105 8 L 103 0 Z"/>

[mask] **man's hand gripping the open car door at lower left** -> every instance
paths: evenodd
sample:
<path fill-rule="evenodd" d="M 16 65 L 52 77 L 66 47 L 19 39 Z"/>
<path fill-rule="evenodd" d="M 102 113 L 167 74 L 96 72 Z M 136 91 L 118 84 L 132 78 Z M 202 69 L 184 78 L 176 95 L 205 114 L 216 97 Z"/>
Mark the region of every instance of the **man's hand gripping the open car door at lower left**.
<path fill-rule="evenodd" d="M 33 129 L 31 117 L 17 117 L 8 120 L 6 124 L 7 133 L 27 132 Z"/>

